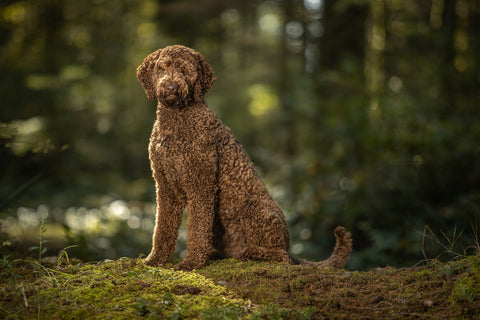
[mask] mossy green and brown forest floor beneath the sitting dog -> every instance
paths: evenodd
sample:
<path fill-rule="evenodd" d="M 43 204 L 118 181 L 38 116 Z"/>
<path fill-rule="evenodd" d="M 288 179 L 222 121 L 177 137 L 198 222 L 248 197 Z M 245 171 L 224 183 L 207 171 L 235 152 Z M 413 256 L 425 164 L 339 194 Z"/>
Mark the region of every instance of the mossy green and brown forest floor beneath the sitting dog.
<path fill-rule="evenodd" d="M 479 319 L 480 256 L 371 271 L 0 260 L 0 319 Z"/>

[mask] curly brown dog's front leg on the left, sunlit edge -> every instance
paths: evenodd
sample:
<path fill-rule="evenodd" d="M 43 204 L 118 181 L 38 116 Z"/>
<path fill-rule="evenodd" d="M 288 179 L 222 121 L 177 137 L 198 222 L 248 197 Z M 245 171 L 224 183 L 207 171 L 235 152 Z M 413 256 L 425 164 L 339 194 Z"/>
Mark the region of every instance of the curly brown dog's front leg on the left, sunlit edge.
<path fill-rule="evenodd" d="M 165 265 L 175 251 L 178 229 L 182 222 L 186 201 L 178 199 L 164 183 L 164 178 L 155 175 L 157 187 L 157 215 L 153 231 L 152 251 L 145 259 L 150 266 Z"/>

